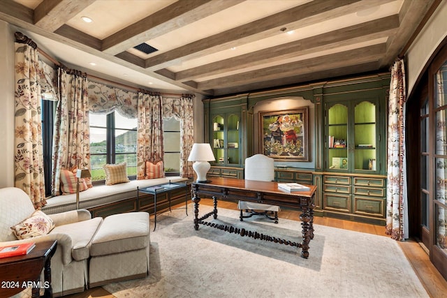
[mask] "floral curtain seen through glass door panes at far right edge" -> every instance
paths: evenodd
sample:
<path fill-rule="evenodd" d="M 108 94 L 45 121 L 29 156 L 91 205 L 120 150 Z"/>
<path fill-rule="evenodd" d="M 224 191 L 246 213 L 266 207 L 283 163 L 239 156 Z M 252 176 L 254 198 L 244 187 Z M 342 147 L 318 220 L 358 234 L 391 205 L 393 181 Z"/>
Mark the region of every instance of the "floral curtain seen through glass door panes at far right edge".
<path fill-rule="evenodd" d="M 446 105 L 446 89 L 444 87 L 444 74 L 443 72 L 447 72 L 447 65 L 441 67 L 436 75 L 435 75 L 435 92 L 434 92 L 434 100 L 435 100 L 435 108 L 443 107 Z M 437 112 L 437 132 L 436 132 L 436 154 L 438 155 L 446 155 L 446 110 L 439 110 Z M 437 208 L 434 209 L 434 216 L 437 216 L 437 220 L 435 221 L 436 227 L 436 237 L 437 237 L 437 245 L 440 248 L 447 248 L 447 209 L 444 208 L 443 205 L 446 204 L 446 176 L 447 176 L 447 167 L 445 158 L 437 158 L 435 163 L 435 179 L 436 179 L 436 200 L 441 204 L 436 204 Z"/>

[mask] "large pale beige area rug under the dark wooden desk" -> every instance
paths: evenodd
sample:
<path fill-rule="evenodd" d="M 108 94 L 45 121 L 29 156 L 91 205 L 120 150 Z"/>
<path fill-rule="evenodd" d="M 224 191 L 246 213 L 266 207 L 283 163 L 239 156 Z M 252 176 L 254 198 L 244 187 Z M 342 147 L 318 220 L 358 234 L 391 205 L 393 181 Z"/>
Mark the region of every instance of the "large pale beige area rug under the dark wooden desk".
<path fill-rule="evenodd" d="M 200 215 L 212 207 L 200 205 Z M 157 216 L 149 276 L 103 286 L 116 297 L 429 297 L 397 242 L 374 234 L 314 225 L 309 258 L 300 248 L 204 225 L 188 206 Z M 239 221 L 219 208 L 217 220 L 301 242 L 299 221 Z M 153 222 L 152 228 L 154 227 Z"/>

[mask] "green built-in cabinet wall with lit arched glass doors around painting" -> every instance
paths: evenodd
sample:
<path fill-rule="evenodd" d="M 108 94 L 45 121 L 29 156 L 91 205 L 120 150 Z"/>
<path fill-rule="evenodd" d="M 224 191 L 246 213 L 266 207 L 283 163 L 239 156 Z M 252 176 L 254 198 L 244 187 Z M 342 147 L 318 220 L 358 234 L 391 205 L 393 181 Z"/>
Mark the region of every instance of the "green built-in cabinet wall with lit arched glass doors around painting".
<path fill-rule="evenodd" d="M 383 225 L 386 208 L 386 119 L 389 73 L 316 82 L 203 100 L 205 137 L 217 161 L 212 176 L 243 177 L 245 158 L 258 152 L 254 107 L 263 100 L 309 100 L 314 167 L 277 168 L 277 181 L 317 186 L 315 214 Z M 292 107 L 289 107 L 292 108 Z M 306 165 L 305 167 L 302 165 Z"/>

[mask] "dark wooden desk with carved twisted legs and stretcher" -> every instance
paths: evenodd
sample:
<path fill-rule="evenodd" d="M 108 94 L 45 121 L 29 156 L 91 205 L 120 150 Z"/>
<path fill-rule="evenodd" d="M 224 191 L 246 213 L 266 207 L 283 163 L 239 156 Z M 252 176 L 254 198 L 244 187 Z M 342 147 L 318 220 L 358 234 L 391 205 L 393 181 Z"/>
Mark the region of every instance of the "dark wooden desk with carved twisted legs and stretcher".
<path fill-rule="evenodd" d="M 226 232 L 248 236 L 254 239 L 264 241 L 273 241 L 279 244 L 286 244 L 302 248 L 302 258 L 309 257 L 309 242 L 314 239 L 314 194 L 316 186 L 308 185 L 310 191 L 295 191 L 288 193 L 278 188 L 277 182 L 254 181 L 234 178 L 212 177 L 210 183 L 193 182 L 191 191 L 194 202 L 194 229 L 198 230 L 198 225 L 208 225 L 213 228 L 225 230 Z M 211 197 L 214 200 L 214 209 L 212 212 L 198 217 L 198 206 L 200 202 L 199 195 Z M 214 216 L 217 218 L 217 200 L 243 200 L 248 202 L 257 202 L 272 204 L 281 207 L 292 207 L 302 210 L 300 220 L 302 221 L 302 243 L 295 243 L 285 239 L 277 239 L 258 232 L 251 232 L 244 229 L 227 225 L 214 225 L 206 222 L 205 219 Z"/>

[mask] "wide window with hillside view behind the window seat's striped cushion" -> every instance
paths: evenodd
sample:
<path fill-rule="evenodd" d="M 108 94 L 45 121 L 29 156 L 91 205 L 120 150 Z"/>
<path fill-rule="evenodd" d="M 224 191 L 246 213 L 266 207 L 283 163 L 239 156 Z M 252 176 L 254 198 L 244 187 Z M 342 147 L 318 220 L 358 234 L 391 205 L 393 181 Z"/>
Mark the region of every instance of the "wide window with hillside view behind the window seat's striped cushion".
<path fill-rule="evenodd" d="M 136 177 L 137 119 L 123 117 L 117 112 L 90 112 L 91 180 L 105 179 L 103 165 L 127 163 L 127 175 Z"/>

